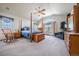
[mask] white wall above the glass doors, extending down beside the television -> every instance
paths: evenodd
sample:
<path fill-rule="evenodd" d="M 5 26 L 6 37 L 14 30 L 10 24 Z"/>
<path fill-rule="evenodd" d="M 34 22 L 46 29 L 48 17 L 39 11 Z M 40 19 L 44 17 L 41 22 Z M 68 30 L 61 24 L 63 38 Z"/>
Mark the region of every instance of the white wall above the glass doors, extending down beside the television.
<path fill-rule="evenodd" d="M 66 15 L 50 15 L 50 16 L 44 17 L 43 19 L 45 23 L 56 21 L 55 32 L 60 32 L 62 31 L 60 29 L 60 24 L 62 21 L 66 21 Z"/>

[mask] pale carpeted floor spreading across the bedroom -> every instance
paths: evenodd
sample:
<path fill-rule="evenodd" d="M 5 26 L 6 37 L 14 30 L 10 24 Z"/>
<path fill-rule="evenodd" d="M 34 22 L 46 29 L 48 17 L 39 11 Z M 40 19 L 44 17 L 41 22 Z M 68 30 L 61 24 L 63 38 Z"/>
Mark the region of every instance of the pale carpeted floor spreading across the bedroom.
<path fill-rule="evenodd" d="M 0 42 L 0 56 L 68 56 L 64 40 L 46 36 L 39 43 L 20 38 L 14 43 Z"/>

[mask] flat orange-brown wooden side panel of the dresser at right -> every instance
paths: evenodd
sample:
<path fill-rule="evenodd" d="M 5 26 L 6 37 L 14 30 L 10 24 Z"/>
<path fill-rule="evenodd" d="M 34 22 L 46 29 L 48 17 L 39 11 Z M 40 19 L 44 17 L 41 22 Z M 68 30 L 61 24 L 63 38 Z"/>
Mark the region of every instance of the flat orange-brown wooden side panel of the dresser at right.
<path fill-rule="evenodd" d="M 71 39 L 70 47 L 69 47 L 70 55 L 78 56 L 79 55 L 79 36 L 72 35 L 70 39 Z"/>

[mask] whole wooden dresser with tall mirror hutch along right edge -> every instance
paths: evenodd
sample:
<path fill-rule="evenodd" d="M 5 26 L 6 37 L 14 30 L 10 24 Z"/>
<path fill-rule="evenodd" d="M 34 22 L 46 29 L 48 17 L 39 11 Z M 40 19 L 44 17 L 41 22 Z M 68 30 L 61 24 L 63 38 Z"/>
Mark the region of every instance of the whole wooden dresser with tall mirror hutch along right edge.
<path fill-rule="evenodd" d="M 68 21 L 72 17 L 73 30 L 70 30 Z M 67 16 L 67 31 L 64 40 L 71 56 L 79 56 L 79 4 L 73 6 L 73 14 Z"/>

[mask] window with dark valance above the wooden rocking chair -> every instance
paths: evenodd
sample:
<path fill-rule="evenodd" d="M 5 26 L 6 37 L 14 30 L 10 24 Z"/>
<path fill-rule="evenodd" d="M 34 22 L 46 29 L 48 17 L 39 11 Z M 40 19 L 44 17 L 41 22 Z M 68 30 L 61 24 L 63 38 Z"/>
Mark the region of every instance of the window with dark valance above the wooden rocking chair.
<path fill-rule="evenodd" d="M 1 29 L 12 29 L 13 27 L 13 18 L 0 16 L 0 28 Z"/>

